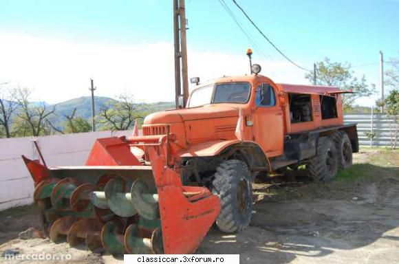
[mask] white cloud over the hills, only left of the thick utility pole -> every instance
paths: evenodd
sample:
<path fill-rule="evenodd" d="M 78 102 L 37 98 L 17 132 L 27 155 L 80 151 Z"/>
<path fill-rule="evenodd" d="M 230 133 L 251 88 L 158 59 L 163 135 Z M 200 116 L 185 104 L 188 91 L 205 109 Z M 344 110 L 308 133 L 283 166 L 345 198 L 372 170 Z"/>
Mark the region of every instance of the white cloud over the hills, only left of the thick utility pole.
<path fill-rule="evenodd" d="M 169 43 L 97 45 L 1 35 L 0 43 L 0 80 L 32 88 L 40 100 L 88 96 L 89 78 L 98 96 L 130 91 L 143 100 L 173 99 L 167 93 L 173 83 Z"/>

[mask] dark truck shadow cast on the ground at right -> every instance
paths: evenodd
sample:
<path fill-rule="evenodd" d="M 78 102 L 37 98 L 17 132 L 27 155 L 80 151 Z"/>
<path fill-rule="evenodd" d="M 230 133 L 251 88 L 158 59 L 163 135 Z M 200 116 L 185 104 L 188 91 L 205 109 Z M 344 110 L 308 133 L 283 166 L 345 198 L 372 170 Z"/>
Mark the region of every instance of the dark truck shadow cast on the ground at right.
<path fill-rule="evenodd" d="M 238 234 L 224 234 L 214 227 L 200 252 L 240 254 L 241 263 L 288 263 L 363 250 L 371 244 L 375 249 L 396 243 L 395 248 L 399 241 L 399 167 L 355 164 L 351 171 L 375 175 L 338 177 L 331 183 L 296 188 L 255 188 L 250 226 Z"/>

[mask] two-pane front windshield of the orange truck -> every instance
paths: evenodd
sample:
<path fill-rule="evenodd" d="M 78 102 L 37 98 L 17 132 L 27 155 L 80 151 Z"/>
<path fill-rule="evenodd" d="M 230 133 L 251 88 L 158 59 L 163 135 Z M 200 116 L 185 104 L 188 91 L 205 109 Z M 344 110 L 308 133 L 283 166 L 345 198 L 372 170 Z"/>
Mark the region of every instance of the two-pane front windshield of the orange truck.
<path fill-rule="evenodd" d="M 250 96 L 249 83 L 220 83 L 196 89 L 191 93 L 188 107 L 200 107 L 205 104 L 233 102 L 244 104 Z"/>

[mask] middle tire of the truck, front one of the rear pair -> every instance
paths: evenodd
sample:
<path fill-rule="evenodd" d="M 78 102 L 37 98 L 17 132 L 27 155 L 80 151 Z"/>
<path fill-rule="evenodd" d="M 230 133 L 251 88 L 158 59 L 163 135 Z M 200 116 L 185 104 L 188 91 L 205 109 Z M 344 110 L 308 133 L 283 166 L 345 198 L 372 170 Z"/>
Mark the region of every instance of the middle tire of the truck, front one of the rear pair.
<path fill-rule="evenodd" d="M 314 181 L 330 181 L 338 171 L 338 159 L 334 142 L 330 137 L 320 137 L 317 154 L 308 162 L 309 175 Z"/>

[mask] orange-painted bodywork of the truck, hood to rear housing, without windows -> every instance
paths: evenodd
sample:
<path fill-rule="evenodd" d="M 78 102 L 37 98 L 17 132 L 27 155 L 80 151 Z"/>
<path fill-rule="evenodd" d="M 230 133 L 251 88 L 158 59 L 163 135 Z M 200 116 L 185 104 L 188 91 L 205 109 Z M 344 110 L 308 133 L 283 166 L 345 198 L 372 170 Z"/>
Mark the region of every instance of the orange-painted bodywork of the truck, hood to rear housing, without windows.
<path fill-rule="evenodd" d="M 230 146 L 231 141 L 237 140 L 235 129 L 241 109 L 244 123 L 246 120 L 252 122 L 252 126 L 243 127 L 243 141 L 255 142 L 267 157 L 276 157 L 283 155 L 285 135 L 343 124 L 341 95 L 337 94 L 340 90 L 336 87 L 277 84 L 261 75 L 233 76 L 215 80 L 215 84 L 221 83 L 249 83 L 251 91 L 248 102 L 206 104 L 202 107 L 153 113 L 144 120 L 144 135 L 153 135 L 147 132 L 153 126 L 170 124 L 171 133 L 176 137 L 173 148 L 178 155 L 184 157 L 218 155 L 224 148 Z M 270 85 L 274 91 L 276 100 L 272 107 L 257 107 L 255 104 L 255 91 L 262 84 Z M 294 124 L 290 122 L 288 94 L 310 95 L 312 121 Z M 319 96 L 330 94 L 338 98 L 336 104 L 338 118 L 322 120 Z"/>

